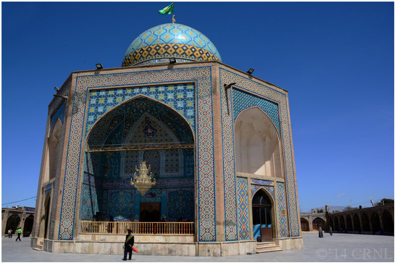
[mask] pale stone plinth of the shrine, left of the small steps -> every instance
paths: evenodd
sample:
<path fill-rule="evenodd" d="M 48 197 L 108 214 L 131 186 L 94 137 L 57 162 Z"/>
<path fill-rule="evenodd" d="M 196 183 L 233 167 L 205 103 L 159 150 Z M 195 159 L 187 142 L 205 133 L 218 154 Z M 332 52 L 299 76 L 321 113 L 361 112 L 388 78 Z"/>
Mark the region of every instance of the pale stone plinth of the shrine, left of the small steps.
<path fill-rule="evenodd" d="M 114 236 L 114 237 L 113 237 Z M 156 236 L 156 240 L 189 240 L 189 236 Z M 151 237 L 152 239 L 155 236 Z M 84 240 L 83 240 L 84 239 Z M 88 240 L 89 239 L 89 240 Z M 110 241 L 110 239 L 114 239 Z M 235 256 L 255 253 L 256 241 L 232 242 L 192 242 L 192 241 L 144 241 L 146 236 L 135 236 L 136 255 L 146 256 Z M 82 253 L 123 255 L 122 248 L 125 235 L 79 235 L 79 240 L 44 239 L 43 250 L 52 253 Z M 37 238 L 32 237 L 31 246 L 37 245 Z"/>

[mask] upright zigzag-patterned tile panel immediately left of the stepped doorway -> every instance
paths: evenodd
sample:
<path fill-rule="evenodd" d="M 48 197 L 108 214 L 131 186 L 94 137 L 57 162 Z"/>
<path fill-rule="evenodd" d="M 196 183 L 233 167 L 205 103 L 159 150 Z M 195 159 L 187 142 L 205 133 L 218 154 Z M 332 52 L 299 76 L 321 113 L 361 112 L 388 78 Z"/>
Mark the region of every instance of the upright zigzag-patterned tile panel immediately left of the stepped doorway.
<path fill-rule="evenodd" d="M 238 193 L 238 233 L 239 240 L 249 239 L 249 210 L 247 199 L 247 179 L 237 179 Z"/>

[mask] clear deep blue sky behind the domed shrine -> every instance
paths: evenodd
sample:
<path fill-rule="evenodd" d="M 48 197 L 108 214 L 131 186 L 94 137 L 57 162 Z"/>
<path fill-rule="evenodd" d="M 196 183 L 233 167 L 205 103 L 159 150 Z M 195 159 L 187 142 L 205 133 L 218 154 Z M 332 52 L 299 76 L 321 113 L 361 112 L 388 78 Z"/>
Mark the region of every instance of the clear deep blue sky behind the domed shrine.
<path fill-rule="evenodd" d="M 1 3 L 2 204 L 37 194 L 53 88 L 120 67 L 139 34 L 171 22 L 158 14 L 169 3 Z M 393 2 L 175 2 L 175 14 L 224 63 L 289 91 L 302 211 L 394 198 Z"/>

